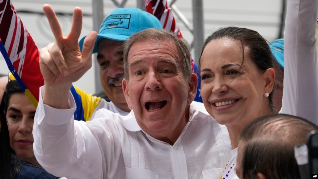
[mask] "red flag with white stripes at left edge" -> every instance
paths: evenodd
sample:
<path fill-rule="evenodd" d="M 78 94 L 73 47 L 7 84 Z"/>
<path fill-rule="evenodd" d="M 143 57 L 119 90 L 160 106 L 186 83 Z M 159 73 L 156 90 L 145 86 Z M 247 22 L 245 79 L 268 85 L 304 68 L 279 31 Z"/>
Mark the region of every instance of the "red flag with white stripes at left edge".
<path fill-rule="evenodd" d="M 39 52 L 11 0 L 0 0 L 0 51 L 24 93 L 37 106 L 38 87 L 44 85 Z"/>

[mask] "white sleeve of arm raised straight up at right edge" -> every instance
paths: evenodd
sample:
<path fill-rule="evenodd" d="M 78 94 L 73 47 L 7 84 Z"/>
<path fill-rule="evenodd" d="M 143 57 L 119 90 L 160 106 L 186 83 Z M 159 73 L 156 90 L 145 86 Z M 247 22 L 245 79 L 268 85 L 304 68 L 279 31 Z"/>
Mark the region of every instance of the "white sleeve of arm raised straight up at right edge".
<path fill-rule="evenodd" d="M 284 36 L 284 89 L 280 113 L 318 124 L 317 0 L 288 0 Z"/>

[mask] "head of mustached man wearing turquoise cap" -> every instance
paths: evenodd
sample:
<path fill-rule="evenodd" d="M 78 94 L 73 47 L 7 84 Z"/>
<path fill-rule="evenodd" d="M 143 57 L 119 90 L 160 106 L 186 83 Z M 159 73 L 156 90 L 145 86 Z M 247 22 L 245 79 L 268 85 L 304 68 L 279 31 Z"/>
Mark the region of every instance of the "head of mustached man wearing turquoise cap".
<path fill-rule="evenodd" d="M 138 8 L 117 8 L 107 15 L 97 34 L 93 53 L 97 53 L 100 79 L 107 97 L 118 108 L 130 111 L 125 100 L 121 81 L 124 78 L 123 43 L 130 35 L 147 28 L 162 29 L 152 14 Z M 85 37 L 79 41 L 82 49 Z"/>

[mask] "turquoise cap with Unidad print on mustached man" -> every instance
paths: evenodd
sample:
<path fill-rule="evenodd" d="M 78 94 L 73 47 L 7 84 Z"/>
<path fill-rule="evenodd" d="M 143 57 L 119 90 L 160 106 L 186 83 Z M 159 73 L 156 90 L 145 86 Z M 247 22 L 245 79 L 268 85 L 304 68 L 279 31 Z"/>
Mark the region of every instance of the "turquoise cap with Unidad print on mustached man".
<path fill-rule="evenodd" d="M 103 38 L 125 41 L 130 35 L 147 28 L 162 29 L 162 25 L 154 15 L 139 8 L 117 8 L 100 25 L 93 53 L 97 52 L 97 44 Z M 81 51 L 85 37 L 79 41 Z"/>

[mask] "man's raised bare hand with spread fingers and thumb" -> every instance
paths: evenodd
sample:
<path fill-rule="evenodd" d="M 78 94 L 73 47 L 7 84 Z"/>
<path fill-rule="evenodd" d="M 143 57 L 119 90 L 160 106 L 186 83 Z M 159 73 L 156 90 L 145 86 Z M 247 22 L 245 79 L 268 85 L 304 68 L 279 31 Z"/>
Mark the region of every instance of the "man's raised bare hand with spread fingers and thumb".
<path fill-rule="evenodd" d="M 92 66 L 92 52 L 97 32 L 90 32 L 86 36 L 81 53 L 78 39 L 82 29 L 82 10 L 78 7 L 74 9 L 72 28 L 66 37 L 62 34 L 52 7 L 45 4 L 43 11 L 55 37 L 54 43 L 40 51 L 39 63 L 45 84 L 43 102 L 52 107 L 67 108 L 67 95 L 72 83 Z M 61 106 L 65 103 L 66 106 Z"/>

